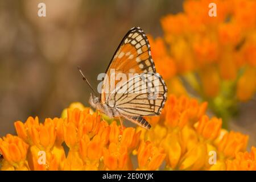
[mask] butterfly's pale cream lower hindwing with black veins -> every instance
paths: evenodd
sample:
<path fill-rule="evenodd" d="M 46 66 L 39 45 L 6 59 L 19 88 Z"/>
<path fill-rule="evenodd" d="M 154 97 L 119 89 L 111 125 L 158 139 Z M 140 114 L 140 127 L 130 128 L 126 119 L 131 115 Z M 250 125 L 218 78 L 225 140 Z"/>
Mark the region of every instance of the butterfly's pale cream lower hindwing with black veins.
<path fill-rule="evenodd" d="M 167 86 L 158 73 L 130 78 L 109 96 L 106 104 L 126 117 L 159 115 L 167 98 Z"/>

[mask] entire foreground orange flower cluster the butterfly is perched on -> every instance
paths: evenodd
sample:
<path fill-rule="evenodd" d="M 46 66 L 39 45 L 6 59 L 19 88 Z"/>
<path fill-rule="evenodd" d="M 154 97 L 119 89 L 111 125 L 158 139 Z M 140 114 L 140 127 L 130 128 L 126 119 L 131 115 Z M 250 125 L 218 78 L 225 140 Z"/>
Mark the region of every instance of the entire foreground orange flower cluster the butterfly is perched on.
<path fill-rule="evenodd" d="M 75 106 L 80 107 L 80 109 Z M 248 136 L 221 129 L 205 115 L 207 102 L 171 95 L 163 113 L 148 117 L 151 130 L 105 121 L 72 104 L 61 118 L 28 117 L 14 123 L 18 136 L 0 138 L 1 170 L 251 170 Z M 133 155 L 137 155 L 134 160 Z"/>

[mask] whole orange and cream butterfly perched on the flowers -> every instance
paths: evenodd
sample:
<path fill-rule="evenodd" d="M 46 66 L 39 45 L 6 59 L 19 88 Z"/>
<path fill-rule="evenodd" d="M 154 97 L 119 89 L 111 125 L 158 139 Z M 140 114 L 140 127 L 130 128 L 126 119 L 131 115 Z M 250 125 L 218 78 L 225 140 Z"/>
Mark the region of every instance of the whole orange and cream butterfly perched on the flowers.
<path fill-rule="evenodd" d="M 79 67 L 83 79 L 88 80 Z M 121 73 L 127 79 L 114 80 L 109 84 L 112 71 Z M 150 44 L 140 27 L 131 28 L 116 49 L 105 72 L 100 97 L 90 94 L 89 103 L 110 118 L 119 118 L 121 125 L 125 118 L 137 125 L 150 129 L 146 116 L 159 115 L 167 99 L 167 86 L 156 72 Z M 111 82 L 111 81 L 110 81 Z"/>

